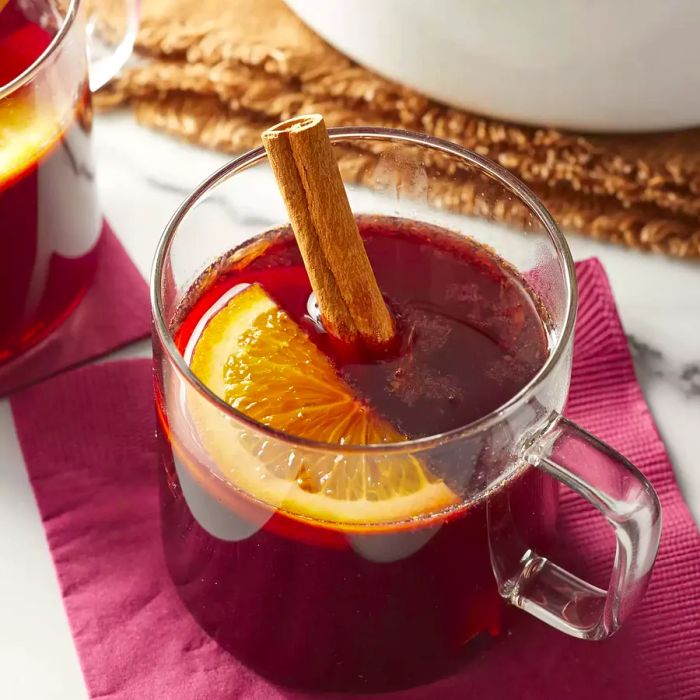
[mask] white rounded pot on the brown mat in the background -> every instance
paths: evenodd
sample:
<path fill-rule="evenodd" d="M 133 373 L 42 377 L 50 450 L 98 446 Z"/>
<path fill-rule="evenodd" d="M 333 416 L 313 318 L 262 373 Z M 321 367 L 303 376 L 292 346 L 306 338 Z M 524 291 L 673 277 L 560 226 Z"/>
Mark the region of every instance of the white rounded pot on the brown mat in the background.
<path fill-rule="evenodd" d="M 700 125 L 700 0 L 287 0 L 437 100 L 591 131 Z"/>

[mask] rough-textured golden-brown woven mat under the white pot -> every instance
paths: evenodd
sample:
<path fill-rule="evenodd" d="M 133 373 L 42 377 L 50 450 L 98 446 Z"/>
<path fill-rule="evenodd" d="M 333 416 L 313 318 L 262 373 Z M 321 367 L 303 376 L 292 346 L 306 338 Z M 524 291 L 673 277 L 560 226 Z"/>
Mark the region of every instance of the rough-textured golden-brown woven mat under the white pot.
<path fill-rule="evenodd" d="M 353 63 L 281 0 L 144 0 L 137 47 L 146 60 L 99 95 L 103 108 L 129 103 L 144 124 L 229 152 L 302 112 L 425 131 L 513 171 L 567 230 L 700 258 L 700 129 L 589 136 L 454 110 Z"/>

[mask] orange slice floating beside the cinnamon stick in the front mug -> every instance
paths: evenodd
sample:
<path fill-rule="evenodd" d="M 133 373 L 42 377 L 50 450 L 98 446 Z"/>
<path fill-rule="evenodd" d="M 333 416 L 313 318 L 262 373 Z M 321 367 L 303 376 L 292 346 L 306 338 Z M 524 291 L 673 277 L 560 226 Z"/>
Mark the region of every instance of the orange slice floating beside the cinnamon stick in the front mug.
<path fill-rule="evenodd" d="M 367 445 L 405 439 L 358 400 L 329 359 L 263 291 L 233 296 L 191 344 L 194 374 L 263 425 L 316 441 Z M 313 450 L 265 436 L 188 398 L 202 446 L 221 475 L 274 507 L 321 521 L 390 523 L 436 512 L 457 497 L 410 454 Z"/>

